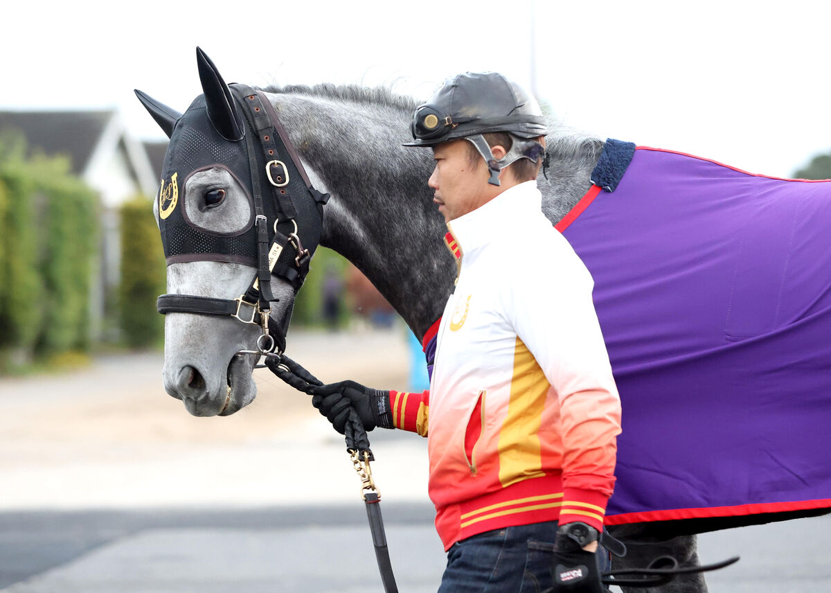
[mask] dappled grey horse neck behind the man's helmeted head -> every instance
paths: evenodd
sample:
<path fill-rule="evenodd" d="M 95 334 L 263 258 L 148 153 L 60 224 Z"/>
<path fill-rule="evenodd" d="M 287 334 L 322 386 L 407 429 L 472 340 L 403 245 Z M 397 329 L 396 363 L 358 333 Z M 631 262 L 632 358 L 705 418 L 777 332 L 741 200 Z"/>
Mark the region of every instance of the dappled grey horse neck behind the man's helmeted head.
<path fill-rule="evenodd" d="M 444 309 L 455 263 L 427 185 L 432 155 L 401 146 L 410 140 L 415 105 L 303 93 L 269 97 L 310 175 L 332 195 L 321 245 L 355 264 L 420 338 Z M 588 190 L 601 150 L 601 141 L 583 136 L 548 137 L 551 165 L 538 185 L 553 224 Z"/>

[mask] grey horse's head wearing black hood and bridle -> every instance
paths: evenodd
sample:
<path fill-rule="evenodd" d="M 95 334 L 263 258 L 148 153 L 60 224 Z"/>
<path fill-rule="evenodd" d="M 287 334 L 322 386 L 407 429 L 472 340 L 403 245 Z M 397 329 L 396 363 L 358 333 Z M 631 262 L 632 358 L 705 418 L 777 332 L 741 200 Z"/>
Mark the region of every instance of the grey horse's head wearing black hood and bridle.
<path fill-rule="evenodd" d="M 203 94 L 184 114 L 136 95 L 170 137 L 154 202 L 167 260 L 165 390 L 194 416 L 224 416 L 253 401 L 256 354 L 285 348 L 327 196 L 268 101 L 196 53 Z"/>

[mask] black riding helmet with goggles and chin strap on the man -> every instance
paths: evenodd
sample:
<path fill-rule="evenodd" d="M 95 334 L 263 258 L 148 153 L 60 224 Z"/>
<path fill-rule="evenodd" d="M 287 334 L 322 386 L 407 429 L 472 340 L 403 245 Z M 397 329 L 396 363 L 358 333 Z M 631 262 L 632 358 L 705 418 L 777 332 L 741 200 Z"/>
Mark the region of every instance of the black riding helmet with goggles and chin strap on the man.
<path fill-rule="evenodd" d="M 404 146 L 435 146 L 465 138 L 490 171 L 489 183 L 499 185 L 499 171 L 519 159 L 537 162 L 543 147 L 532 139 L 547 133 L 545 117 L 533 96 L 497 72 L 465 72 L 445 80 L 430 101 L 416 108 Z M 482 134 L 493 131 L 514 136 L 510 151 L 494 159 Z"/>

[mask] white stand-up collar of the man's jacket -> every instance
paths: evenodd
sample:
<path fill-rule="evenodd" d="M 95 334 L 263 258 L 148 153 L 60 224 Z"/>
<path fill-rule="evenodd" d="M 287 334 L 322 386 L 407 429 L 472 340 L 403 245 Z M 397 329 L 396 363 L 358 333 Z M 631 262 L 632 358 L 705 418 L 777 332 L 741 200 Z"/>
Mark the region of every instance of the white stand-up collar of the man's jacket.
<path fill-rule="evenodd" d="M 524 181 L 497 195 L 487 204 L 447 223 L 445 242 L 456 259 L 462 253 L 470 253 L 487 245 L 495 235 L 509 230 L 511 220 L 524 219 L 527 215 L 540 214 L 543 195 L 536 181 Z M 453 245 L 455 243 L 455 245 Z"/>

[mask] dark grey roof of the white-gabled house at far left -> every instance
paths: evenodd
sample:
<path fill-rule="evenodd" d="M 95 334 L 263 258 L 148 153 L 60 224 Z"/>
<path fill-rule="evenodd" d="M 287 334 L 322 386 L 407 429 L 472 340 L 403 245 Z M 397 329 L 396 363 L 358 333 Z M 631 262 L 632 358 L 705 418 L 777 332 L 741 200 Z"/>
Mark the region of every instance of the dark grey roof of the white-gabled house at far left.
<path fill-rule="evenodd" d="M 28 151 L 69 157 L 76 175 L 86 168 L 114 111 L 0 111 L 0 131 L 18 131 Z"/>

